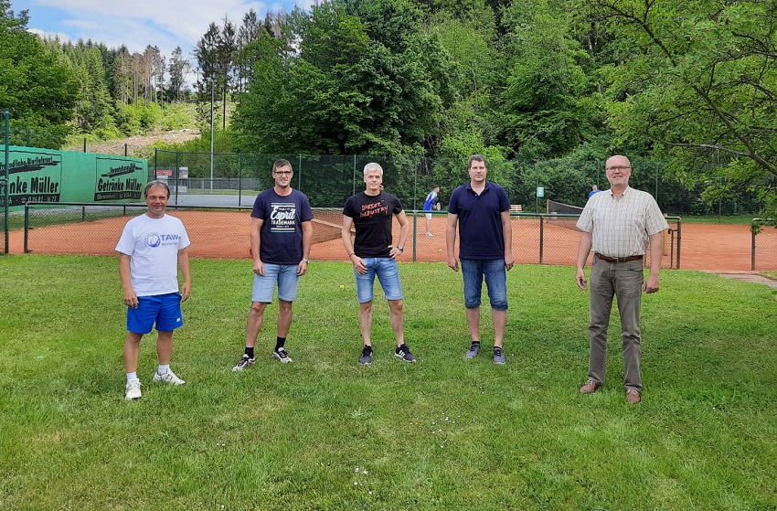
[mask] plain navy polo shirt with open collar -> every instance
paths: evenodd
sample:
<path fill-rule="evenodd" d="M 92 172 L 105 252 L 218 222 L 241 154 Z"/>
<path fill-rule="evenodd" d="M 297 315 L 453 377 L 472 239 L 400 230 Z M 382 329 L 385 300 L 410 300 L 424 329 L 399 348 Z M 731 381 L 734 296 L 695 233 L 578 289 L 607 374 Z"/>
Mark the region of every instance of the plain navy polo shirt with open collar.
<path fill-rule="evenodd" d="M 448 213 L 459 219 L 459 259 L 504 259 L 502 212 L 509 210 L 505 188 L 496 183 L 486 181 L 480 195 L 471 183 L 453 190 Z"/>

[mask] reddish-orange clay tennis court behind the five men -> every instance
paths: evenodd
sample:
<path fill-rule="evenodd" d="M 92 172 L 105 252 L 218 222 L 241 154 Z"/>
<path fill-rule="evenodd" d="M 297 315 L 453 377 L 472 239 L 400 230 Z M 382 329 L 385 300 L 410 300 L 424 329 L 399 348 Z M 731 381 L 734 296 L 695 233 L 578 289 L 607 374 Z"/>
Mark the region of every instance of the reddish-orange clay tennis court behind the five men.
<path fill-rule="evenodd" d="M 248 211 L 200 211 L 179 209 L 171 212 L 181 218 L 192 241 L 190 255 L 195 258 L 247 259 L 250 245 Z M 340 240 L 342 214 L 337 208 L 315 210 L 314 246 L 311 257 L 319 261 L 346 261 Z M 446 261 L 444 215 L 432 218 L 432 237 L 424 235 L 425 218 L 410 217 L 410 240 L 404 261 Z M 101 218 L 83 222 L 31 229 L 28 248 L 38 254 L 115 254 L 113 248 L 130 217 Z M 559 222 L 569 223 L 569 222 Z M 580 233 L 569 226 L 546 221 L 542 232 L 542 263 L 574 265 Z M 414 229 L 418 231 L 413 242 Z M 395 234 L 399 232 L 395 222 Z M 680 269 L 704 271 L 750 271 L 751 243 L 749 225 L 682 224 Z M 663 266 L 676 266 L 677 233 L 665 239 Z M 774 238 L 772 236 L 772 238 Z M 539 218 L 513 218 L 513 255 L 518 264 L 540 262 Z M 777 239 L 775 239 L 777 241 Z M 671 247 L 670 247 L 671 244 Z M 671 253 L 670 253 L 671 249 Z M 777 246 L 775 246 L 777 249 Z M 24 231 L 9 232 L 10 253 L 23 253 Z M 771 260 L 771 261 L 770 261 Z M 777 250 L 761 250 L 758 268 L 777 269 Z"/>

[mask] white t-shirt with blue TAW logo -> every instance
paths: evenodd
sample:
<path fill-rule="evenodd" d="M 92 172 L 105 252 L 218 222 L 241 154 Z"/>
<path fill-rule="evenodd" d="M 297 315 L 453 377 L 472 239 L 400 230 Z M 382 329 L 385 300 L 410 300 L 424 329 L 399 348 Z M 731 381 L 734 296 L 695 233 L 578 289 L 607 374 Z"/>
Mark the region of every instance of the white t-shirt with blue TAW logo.
<path fill-rule="evenodd" d="M 116 251 L 130 256 L 130 281 L 135 294 L 177 293 L 178 250 L 189 244 L 178 218 L 141 215 L 127 222 Z"/>

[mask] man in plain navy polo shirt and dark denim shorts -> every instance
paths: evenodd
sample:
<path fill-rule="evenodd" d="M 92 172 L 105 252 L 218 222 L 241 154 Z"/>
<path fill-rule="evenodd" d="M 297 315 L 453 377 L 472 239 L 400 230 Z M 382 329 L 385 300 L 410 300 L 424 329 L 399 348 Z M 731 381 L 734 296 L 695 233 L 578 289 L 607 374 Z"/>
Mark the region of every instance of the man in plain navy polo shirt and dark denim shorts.
<path fill-rule="evenodd" d="M 451 194 L 445 242 L 448 266 L 459 271 L 456 260 L 456 227 L 459 230 L 459 259 L 462 261 L 464 306 L 472 346 L 467 358 L 480 352 L 480 295 L 483 280 L 491 303 L 494 322 L 494 363 L 505 364 L 503 350 L 507 323 L 507 274 L 513 267 L 513 233 L 510 228 L 510 200 L 505 188 L 486 181 L 485 157 L 470 156 L 470 182 Z"/>

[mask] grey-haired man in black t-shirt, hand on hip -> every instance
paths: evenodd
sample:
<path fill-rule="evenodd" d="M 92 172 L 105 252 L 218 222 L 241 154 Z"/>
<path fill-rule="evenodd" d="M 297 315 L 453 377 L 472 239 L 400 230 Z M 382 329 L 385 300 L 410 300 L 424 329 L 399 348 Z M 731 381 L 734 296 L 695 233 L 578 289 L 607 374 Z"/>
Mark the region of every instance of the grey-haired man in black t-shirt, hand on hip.
<path fill-rule="evenodd" d="M 366 190 L 346 202 L 343 208 L 343 246 L 354 265 L 359 301 L 359 326 L 364 340 L 359 363 L 372 363 L 372 301 L 375 277 L 389 301 L 389 320 L 397 338 L 394 355 L 405 362 L 415 362 L 405 343 L 405 319 L 402 311 L 402 287 L 396 258 L 402 254 L 410 232 L 410 220 L 402 210 L 399 199 L 382 191 L 383 168 L 370 163 L 364 167 Z M 399 242 L 394 245 L 391 224 L 399 220 Z M 351 228 L 356 238 L 351 240 Z"/>

